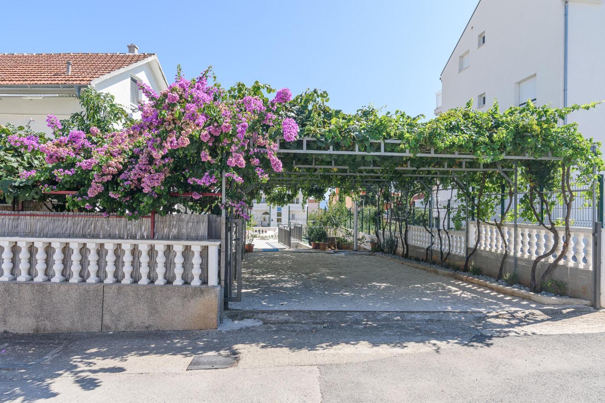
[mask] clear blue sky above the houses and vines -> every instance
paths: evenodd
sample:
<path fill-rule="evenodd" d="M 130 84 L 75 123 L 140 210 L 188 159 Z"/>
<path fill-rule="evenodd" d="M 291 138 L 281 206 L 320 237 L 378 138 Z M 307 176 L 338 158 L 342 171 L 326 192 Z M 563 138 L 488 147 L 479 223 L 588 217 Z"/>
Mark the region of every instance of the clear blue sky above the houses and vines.
<path fill-rule="evenodd" d="M 477 0 L 4 2 L 0 52 L 155 52 L 168 76 L 212 65 L 330 105 L 433 115 L 439 74 Z M 8 33 L 11 33 L 8 35 Z"/>

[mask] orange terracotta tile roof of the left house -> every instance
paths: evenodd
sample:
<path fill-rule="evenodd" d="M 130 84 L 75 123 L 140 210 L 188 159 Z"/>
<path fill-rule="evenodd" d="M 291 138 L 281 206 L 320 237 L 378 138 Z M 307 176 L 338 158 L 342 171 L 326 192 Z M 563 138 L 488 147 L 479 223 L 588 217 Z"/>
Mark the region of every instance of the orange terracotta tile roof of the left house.
<path fill-rule="evenodd" d="M 151 56 L 154 53 L 0 53 L 0 85 L 90 84 Z"/>

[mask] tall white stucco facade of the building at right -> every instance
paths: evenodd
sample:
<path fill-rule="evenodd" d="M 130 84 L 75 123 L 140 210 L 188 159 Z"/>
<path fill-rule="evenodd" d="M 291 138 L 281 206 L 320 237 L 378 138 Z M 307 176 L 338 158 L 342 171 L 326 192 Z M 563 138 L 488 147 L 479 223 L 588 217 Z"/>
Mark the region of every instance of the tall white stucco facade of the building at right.
<path fill-rule="evenodd" d="M 605 4 L 570 0 L 568 10 L 567 105 L 603 101 Z M 435 113 L 471 98 L 480 110 L 491 107 L 494 98 L 501 110 L 518 106 L 526 101 L 519 99 L 520 83 L 531 77 L 536 104 L 564 106 L 564 13 L 564 0 L 480 0 L 443 69 Z M 480 106 L 483 94 L 486 102 Z M 605 142 L 605 106 L 580 110 L 569 121 L 578 122 L 587 138 Z"/>

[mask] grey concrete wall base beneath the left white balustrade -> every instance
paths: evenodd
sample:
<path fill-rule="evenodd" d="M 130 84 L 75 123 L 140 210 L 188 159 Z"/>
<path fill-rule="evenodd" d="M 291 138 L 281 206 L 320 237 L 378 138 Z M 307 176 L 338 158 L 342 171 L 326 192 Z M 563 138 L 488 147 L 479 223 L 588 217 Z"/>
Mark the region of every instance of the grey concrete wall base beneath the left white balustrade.
<path fill-rule="evenodd" d="M 220 287 L 0 282 L 0 332 L 216 329 Z"/>

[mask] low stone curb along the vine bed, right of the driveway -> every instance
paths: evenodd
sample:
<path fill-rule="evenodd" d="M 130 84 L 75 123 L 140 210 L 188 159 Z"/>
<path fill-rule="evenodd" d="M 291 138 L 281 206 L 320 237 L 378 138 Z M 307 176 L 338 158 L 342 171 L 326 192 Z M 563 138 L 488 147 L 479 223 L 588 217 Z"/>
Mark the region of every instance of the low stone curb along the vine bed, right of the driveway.
<path fill-rule="evenodd" d="M 541 303 L 543 305 L 586 305 L 592 306 L 592 301 L 581 298 L 563 298 L 563 297 L 549 297 L 546 295 L 532 293 L 531 291 L 519 290 L 518 288 L 508 287 L 506 285 L 495 284 L 494 282 L 489 282 L 485 280 L 476 279 L 474 277 L 466 276 L 465 274 L 456 273 L 454 271 L 445 270 L 443 268 L 431 267 L 424 264 L 401 261 L 399 259 L 391 258 L 390 256 L 385 255 L 376 255 L 382 256 L 383 258 L 391 259 L 392 261 L 399 262 L 401 264 L 405 264 L 415 268 L 421 268 L 422 270 L 429 271 L 430 273 L 440 274 L 442 276 L 451 277 L 460 281 L 468 282 L 471 284 L 480 285 L 485 288 L 489 288 L 490 290 L 498 291 L 499 293 L 519 297 L 523 299 L 528 299 L 537 303 Z"/>

